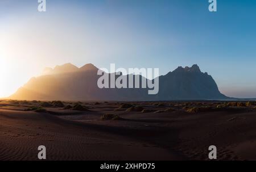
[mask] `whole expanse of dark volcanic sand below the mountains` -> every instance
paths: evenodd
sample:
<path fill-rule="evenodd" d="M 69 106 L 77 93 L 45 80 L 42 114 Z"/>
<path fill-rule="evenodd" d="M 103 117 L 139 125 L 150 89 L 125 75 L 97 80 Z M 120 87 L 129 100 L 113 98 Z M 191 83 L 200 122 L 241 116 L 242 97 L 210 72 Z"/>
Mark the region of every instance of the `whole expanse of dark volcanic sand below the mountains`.
<path fill-rule="evenodd" d="M 79 103 L 89 111 L 24 111 L 39 102 L 0 102 L 0 160 L 38 160 L 39 145 L 47 160 L 208 160 L 210 145 L 218 160 L 256 160 L 254 102 L 129 102 L 151 110 L 144 113 L 117 109 L 122 102 Z M 192 107 L 199 109 L 188 113 Z M 122 119 L 100 118 L 108 113 Z"/>

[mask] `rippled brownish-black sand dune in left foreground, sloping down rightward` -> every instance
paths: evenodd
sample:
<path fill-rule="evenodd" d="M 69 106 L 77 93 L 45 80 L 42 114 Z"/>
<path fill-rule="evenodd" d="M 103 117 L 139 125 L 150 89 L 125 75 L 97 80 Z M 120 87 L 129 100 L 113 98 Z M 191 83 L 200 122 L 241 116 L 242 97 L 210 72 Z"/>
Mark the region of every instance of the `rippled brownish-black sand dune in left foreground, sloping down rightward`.
<path fill-rule="evenodd" d="M 130 137 L 133 133 L 121 127 L 11 110 L 0 110 L 0 120 L 0 160 L 38 160 L 39 145 L 46 146 L 47 160 L 179 159 L 175 153 Z"/>

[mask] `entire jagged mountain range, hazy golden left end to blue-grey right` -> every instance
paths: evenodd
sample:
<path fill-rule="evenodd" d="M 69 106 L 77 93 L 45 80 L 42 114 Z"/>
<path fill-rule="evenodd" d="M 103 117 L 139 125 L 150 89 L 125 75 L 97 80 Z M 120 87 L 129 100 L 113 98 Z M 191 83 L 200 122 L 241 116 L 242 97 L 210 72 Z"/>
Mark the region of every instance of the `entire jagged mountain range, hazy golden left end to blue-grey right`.
<path fill-rule="evenodd" d="M 141 88 L 100 89 L 97 81 L 101 76 L 97 75 L 97 72 L 98 69 L 93 64 L 86 64 L 81 68 L 72 64 L 56 66 L 54 69 L 47 68 L 42 76 L 31 78 L 10 98 L 26 100 L 228 99 L 220 93 L 213 78 L 207 73 L 202 73 L 197 65 L 191 68 L 179 67 L 173 72 L 161 75 L 158 78 L 159 93 L 156 95 L 148 95 L 148 89 Z M 108 74 L 109 78 L 110 75 L 112 74 Z M 134 75 L 132 77 L 134 78 Z M 141 81 L 143 77 L 139 75 L 139 78 Z M 129 82 L 128 79 L 127 82 Z"/>

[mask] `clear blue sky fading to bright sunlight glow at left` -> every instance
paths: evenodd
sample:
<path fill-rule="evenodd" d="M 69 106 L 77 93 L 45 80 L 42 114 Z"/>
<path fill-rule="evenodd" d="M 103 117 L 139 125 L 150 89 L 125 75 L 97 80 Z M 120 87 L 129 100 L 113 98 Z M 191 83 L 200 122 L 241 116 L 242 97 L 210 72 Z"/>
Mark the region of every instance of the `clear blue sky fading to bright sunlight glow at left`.
<path fill-rule="evenodd" d="M 98 68 L 197 64 L 229 97 L 256 98 L 256 1 L 0 1 L 0 98 L 46 67 Z"/>

